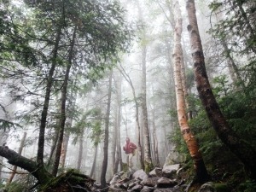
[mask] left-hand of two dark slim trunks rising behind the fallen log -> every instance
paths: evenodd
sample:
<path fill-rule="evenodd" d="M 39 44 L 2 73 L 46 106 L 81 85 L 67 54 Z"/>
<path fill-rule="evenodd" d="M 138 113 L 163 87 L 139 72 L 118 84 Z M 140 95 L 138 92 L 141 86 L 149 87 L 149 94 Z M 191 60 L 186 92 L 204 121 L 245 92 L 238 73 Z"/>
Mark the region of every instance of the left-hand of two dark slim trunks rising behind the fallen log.
<path fill-rule="evenodd" d="M 48 114 L 48 108 L 49 108 L 49 97 L 50 97 L 50 91 L 53 84 L 53 75 L 55 72 L 55 67 L 57 64 L 57 55 L 58 55 L 58 49 L 59 44 L 61 40 L 61 26 L 57 29 L 56 37 L 55 37 L 55 46 L 53 49 L 53 56 L 52 56 L 52 64 L 49 69 L 48 77 L 47 77 L 47 84 L 46 84 L 46 91 L 44 96 L 44 107 L 41 114 L 41 122 L 39 127 L 39 137 L 38 137 L 38 164 L 43 165 L 44 164 L 44 133 L 45 133 L 45 127 L 46 127 L 46 119 Z"/>

